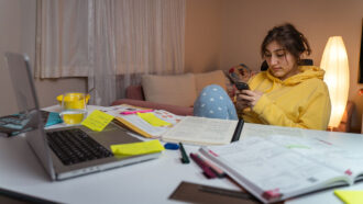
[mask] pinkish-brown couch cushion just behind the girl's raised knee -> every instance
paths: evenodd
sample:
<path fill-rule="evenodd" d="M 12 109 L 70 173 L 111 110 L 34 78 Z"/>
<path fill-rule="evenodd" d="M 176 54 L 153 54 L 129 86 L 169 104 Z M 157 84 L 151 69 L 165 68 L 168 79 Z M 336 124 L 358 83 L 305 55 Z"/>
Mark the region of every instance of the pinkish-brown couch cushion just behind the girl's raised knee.
<path fill-rule="evenodd" d="M 197 86 L 197 94 L 199 95 L 200 91 L 209 86 L 209 84 L 219 84 L 221 86 L 224 90 L 226 88 L 226 76 L 222 70 L 216 70 L 216 71 L 210 71 L 210 72 L 205 72 L 205 73 L 196 73 L 196 86 Z"/>

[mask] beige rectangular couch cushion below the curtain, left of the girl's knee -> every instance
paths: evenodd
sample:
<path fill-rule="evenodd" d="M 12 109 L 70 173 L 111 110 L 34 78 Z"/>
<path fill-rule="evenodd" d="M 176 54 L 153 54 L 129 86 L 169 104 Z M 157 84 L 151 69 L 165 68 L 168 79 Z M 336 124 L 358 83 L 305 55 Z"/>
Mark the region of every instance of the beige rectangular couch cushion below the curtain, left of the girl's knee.
<path fill-rule="evenodd" d="M 141 79 L 146 101 L 170 105 L 193 106 L 197 99 L 193 73 L 175 76 L 145 75 Z"/>

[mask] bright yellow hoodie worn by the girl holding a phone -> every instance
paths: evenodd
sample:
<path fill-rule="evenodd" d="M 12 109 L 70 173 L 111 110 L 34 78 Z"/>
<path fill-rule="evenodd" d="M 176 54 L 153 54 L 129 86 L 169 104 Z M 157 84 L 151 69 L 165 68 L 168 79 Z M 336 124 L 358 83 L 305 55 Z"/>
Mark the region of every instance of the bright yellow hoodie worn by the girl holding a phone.
<path fill-rule="evenodd" d="M 327 129 L 330 98 L 322 81 L 324 71 L 315 66 L 300 66 L 299 73 L 284 81 L 262 71 L 250 81 L 251 90 L 264 94 L 253 109 L 243 110 L 245 122 L 309 129 Z"/>

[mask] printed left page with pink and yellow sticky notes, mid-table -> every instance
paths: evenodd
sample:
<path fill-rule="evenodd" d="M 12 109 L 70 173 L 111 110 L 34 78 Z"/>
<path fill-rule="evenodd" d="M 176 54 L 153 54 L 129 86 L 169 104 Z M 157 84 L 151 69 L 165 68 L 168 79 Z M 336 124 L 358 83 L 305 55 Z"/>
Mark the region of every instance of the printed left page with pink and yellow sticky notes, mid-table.
<path fill-rule="evenodd" d="M 116 105 L 116 106 L 110 106 L 109 109 L 105 109 L 103 112 L 113 115 L 114 116 L 113 121 L 118 125 L 125 127 L 147 138 L 160 138 L 164 133 L 166 133 L 170 128 L 170 126 L 153 126 L 150 123 L 147 123 L 145 120 L 141 118 L 138 114 L 129 114 L 129 115 L 121 114 L 121 112 L 124 111 L 141 111 L 141 110 L 143 109 L 122 104 L 122 105 Z M 175 115 L 164 110 L 154 110 L 152 113 L 160 120 L 163 120 L 164 122 L 167 122 L 172 125 L 177 124 L 183 118 L 183 116 Z"/>

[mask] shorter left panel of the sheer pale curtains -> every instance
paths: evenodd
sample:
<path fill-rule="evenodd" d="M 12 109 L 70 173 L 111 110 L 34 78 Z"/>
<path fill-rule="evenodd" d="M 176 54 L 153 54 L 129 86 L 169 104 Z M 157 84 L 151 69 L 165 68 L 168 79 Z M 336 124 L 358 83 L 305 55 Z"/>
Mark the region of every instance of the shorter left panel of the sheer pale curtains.
<path fill-rule="evenodd" d="M 87 4 L 84 0 L 37 1 L 35 77 L 88 76 Z"/>

